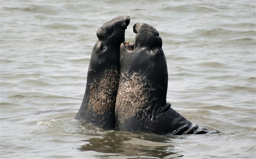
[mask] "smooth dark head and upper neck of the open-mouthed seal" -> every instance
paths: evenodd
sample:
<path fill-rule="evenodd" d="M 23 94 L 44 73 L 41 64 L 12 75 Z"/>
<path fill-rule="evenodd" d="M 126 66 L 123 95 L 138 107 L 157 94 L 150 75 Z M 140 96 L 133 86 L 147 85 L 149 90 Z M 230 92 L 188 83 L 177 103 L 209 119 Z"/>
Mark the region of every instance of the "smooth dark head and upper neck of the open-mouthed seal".
<path fill-rule="evenodd" d="M 146 23 L 134 24 L 133 32 L 136 33 L 134 42 L 120 45 L 120 78 L 126 73 L 129 76 L 138 73 L 166 103 L 168 72 L 162 39 L 158 31 Z"/>

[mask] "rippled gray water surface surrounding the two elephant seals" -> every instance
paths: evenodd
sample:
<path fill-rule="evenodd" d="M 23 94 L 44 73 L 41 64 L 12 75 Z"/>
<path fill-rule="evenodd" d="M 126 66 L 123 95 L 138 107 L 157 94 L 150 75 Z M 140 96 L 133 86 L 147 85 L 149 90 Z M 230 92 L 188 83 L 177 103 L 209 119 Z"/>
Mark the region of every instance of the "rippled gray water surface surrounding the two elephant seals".
<path fill-rule="evenodd" d="M 1 1 L 1 158 L 255 158 L 255 1 Z M 118 15 L 163 39 L 167 102 L 219 134 L 103 130 L 74 120 L 96 31 Z"/>

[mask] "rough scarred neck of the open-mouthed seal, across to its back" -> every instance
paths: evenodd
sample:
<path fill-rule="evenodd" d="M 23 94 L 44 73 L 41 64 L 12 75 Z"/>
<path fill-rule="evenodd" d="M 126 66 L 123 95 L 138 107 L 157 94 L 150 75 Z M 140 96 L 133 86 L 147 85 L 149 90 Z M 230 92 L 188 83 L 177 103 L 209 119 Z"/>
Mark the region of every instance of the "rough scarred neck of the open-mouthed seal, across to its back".
<path fill-rule="evenodd" d="M 165 104 L 166 97 L 161 97 L 161 90 L 139 73 L 122 73 L 117 92 L 116 112 L 126 115 L 121 115 L 118 120 L 122 123 L 142 111 L 152 110 L 155 105 Z"/>

